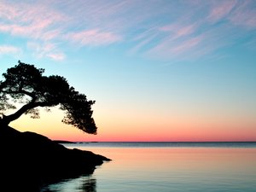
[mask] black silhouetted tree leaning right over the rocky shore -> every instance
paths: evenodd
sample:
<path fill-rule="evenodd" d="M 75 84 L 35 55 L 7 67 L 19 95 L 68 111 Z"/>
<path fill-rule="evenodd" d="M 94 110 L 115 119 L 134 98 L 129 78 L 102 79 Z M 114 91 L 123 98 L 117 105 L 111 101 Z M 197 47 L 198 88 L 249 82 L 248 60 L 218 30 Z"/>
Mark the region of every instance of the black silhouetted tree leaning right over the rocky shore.
<path fill-rule="evenodd" d="M 60 106 L 65 111 L 62 122 L 96 134 L 96 124 L 92 118 L 91 106 L 95 101 L 87 100 L 84 94 L 76 91 L 59 75 L 44 76 L 44 69 L 34 65 L 18 62 L 18 65 L 7 69 L 0 81 L 0 126 L 7 126 L 22 114 L 31 114 L 39 118 L 38 107 L 49 108 Z M 16 109 L 16 106 L 20 106 Z M 9 109 L 15 113 L 5 115 Z"/>

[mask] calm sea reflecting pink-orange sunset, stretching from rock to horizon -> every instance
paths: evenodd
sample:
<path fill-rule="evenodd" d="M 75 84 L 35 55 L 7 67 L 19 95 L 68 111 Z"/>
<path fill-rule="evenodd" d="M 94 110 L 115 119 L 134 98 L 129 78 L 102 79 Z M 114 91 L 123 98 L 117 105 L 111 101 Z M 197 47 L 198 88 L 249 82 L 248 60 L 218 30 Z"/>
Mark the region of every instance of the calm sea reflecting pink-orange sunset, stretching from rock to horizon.
<path fill-rule="evenodd" d="M 255 192 L 256 143 L 63 143 L 111 161 L 42 192 Z"/>

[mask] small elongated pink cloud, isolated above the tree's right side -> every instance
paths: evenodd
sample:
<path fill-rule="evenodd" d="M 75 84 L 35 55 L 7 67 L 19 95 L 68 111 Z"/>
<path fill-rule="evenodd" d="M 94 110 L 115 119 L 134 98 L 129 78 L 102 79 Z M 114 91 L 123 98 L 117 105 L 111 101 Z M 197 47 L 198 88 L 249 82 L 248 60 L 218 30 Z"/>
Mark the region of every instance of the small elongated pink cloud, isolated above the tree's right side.
<path fill-rule="evenodd" d="M 67 39 L 82 45 L 102 45 L 118 42 L 121 38 L 112 32 L 101 32 L 99 29 L 84 30 L 67 34 Z"/>

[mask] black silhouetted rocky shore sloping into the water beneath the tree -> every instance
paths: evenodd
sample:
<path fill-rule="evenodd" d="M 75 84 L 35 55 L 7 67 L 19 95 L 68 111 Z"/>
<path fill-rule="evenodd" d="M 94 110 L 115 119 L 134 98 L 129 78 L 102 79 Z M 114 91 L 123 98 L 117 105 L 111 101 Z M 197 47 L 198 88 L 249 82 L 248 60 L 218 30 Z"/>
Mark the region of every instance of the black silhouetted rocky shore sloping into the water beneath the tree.
<path fill-rule="evenodd" d="M 92 174 L 96 166 L 109 160 L 11 127 L 0 127 L 0 148 L 0 184 L 5 191 L 40 191 L 47 183 Z"/>

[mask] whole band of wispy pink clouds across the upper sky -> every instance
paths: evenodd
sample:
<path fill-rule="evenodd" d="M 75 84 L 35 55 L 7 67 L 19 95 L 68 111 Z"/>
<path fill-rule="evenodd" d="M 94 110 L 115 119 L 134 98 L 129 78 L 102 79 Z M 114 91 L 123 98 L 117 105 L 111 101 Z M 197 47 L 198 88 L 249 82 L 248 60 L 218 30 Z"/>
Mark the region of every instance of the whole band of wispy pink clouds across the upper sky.
<path fill-rule="evenodd" d="M 40 58 L 59 61 L 67 57 L 59 44 L 121 43 L 132 55 L 185 58 L 213 53 L 255 30 L 254 8 L 253 0 L 1 1 L 0 32 L 25 39 Z"/>

